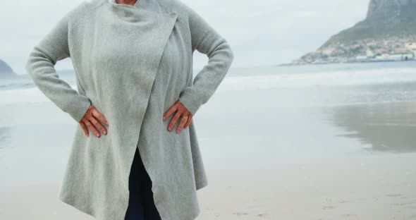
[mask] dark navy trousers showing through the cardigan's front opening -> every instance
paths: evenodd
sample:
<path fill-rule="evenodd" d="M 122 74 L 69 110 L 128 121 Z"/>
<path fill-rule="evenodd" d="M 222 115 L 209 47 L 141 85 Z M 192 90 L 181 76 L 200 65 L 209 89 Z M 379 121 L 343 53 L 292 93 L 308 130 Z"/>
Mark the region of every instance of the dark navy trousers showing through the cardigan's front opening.
<path fill-rule="evenodd" d="M 154 205 L 152 181 L 145 170 L 137 147 L 128 182 L 130 198 L 125 220 L 161 220 Z"/>

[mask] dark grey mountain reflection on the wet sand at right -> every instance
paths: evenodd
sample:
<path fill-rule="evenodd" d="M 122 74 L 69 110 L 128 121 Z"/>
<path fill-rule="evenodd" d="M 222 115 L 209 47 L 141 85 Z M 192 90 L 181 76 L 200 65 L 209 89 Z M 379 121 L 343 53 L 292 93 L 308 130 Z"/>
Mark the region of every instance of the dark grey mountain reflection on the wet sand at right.
<path fill-rule="evenodd" d="M 331 121 L 345 128 L 342 135 L 391 152 L 416 151 L 416 102 L 336 106 Z"/>

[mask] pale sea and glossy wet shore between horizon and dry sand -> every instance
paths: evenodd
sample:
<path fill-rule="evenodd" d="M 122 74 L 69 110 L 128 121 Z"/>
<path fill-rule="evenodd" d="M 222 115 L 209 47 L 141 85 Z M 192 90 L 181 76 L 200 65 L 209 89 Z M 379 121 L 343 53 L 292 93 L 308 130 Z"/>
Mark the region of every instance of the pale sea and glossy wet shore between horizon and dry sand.
<path fill-rule="evenodd" d="M 0 115 L 0 186 L 59 183 L 78 123 L 27 75 L 0 80 Z M 412 154 L 416 62 L 231 68 L 193 120 L 206 169 Z"/>

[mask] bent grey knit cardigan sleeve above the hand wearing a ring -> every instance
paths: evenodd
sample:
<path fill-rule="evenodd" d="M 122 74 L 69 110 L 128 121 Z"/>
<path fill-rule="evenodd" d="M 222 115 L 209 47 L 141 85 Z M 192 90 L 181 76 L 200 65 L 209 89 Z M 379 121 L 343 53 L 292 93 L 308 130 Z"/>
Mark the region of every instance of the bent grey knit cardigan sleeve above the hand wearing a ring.
<path fill-rule="evenodd" d="M 233 61 L 233 51 L 230 45 L 192 8 L 188 10 L 192 52 L 200 51 L 208 56 L 208 63 L 195 76 L 192 86 L 181 91 L 179 101 L 195 115 L 202 104 L 205 104 L 214 94 L 224 79 Z"/>

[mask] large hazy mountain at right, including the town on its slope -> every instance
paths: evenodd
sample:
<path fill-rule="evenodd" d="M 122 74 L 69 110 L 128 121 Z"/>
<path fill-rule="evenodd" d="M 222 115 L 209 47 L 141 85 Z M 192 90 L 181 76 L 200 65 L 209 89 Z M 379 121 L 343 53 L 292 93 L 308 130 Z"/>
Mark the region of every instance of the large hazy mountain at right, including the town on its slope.
<path fill-rule="evenodd" d="M 371 0 L 367 16 L 291 64 L 415 60 L 416 0 Z"/>

